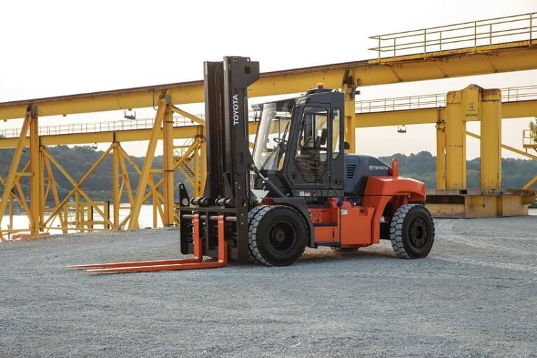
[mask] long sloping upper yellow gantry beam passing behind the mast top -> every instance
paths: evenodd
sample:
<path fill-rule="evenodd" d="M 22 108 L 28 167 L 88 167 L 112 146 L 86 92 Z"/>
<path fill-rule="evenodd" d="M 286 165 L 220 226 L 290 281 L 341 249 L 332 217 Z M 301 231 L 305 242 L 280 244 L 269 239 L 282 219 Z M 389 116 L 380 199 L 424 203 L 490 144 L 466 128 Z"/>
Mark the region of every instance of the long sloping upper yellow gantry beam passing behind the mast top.
<path fill-rule="evenodd" d="M 423 57 L 396 57 L 371 61 L 295 68 L 262 73 L 252 84 L 249 95 L 272 96 L 303 92 L 324 82 L 327 88 L 341 88 L 348 73 L 355 85 L 371 86 L 395 82 L 434 80 L 446 77 L 482 75 L 537 68 L 537 41 L 469 47 L 452 52 L 429 52 Z M 38 116 L 89 113 L 150 107 L 158 103 L 162 92 L 171 104 L 203 102 L 203 82 L 181 82 L 150 87 L 94 92 L 50 98 L 36 98 L 0 103 L 0 119 L 24 117 L 29 104 L 38 105 Z"/>

